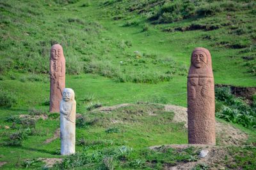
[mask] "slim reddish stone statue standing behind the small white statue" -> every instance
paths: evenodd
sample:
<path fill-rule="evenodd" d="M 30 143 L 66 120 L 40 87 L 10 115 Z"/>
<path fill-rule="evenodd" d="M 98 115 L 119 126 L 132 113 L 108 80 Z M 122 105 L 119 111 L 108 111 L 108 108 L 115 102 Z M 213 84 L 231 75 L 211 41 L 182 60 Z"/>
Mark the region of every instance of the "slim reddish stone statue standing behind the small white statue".
<path fill-rule="evenodd" d="M 50 58 L 50 112 L 60 112 L 60 101 L 65 89 L 65 57 L 61 45 L 53 45 Z"/>

